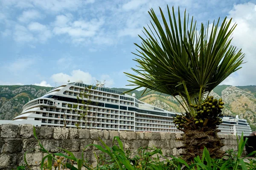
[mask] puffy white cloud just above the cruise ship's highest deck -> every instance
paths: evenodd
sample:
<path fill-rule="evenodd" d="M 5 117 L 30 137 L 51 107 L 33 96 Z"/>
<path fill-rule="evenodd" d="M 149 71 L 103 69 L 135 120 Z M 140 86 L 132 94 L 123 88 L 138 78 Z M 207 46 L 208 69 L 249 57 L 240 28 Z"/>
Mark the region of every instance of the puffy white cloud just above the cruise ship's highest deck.
<path fill-rule="evenodd" d="M 52 81 L 54 82 L 76 82 L 82 80 L 86 84 L 93 84 L 93 77 L 90 73 L 79 70 L 73 70 L 70 75 L 64 73 L 57 73 L 51 76 Z"/>

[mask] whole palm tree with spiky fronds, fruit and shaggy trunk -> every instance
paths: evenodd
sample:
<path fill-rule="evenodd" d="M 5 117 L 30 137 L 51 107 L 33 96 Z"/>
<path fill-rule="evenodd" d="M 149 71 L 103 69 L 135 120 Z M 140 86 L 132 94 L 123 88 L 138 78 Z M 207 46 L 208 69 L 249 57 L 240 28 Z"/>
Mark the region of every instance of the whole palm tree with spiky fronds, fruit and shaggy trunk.
<path fill-rule="evenodd" d="M 151 27 L 144 27 L 146 38 L 137 46 L 138 65 L 132 68 L 138 75 L 125 73 L 132 80 L 131 85 L 144 87 L 174 96 L 183 106 L 185 113 L 177 115 L 174 123 L 184 132 L 184 159 L 191 160 L 202 156 L 207 147 L 213 158 L 223 156 L 220 150 L 223 143 L 218 137 L 217 129 L 221 121 L 222 99 L 213 99 L 209 93 L 230 74 L 240 69 L 244 54 L 231 45 L 230 38 L 236 27 L 231 19 L 220 23 L 201 24 L 197 30 L 196 21 L 189 20 L 184 12 L 184 19 L 175 17 L 174 7 L 168 9 L 168 18 L 160 8 L 161 19 L 158 20 L 151 9 L 148 13 L 153 22 Z M 131 90 L 131 91 L 132 91 Z M 177 96 L 180 96 L 179 99 Z"/>

